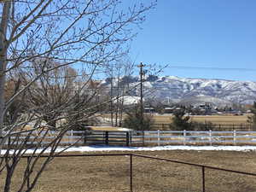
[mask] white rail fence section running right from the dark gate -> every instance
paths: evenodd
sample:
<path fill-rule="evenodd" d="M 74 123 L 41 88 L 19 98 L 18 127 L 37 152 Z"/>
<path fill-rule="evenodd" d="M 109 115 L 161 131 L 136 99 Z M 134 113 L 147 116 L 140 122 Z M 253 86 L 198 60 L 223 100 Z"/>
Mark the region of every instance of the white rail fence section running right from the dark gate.
<path fill-rule="evenodd" d="M 133 131 L 131 143 L 153 145 L 256 144 L 256 131 Z"/>

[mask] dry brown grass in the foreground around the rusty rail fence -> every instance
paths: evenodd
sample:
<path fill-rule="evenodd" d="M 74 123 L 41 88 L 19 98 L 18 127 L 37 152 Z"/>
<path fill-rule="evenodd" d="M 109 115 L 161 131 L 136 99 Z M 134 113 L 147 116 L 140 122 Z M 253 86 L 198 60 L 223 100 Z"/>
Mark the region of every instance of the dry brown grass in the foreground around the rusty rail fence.
<path fill-rule="evenodd" d="M 183 160 L 241 172 L 256 172 L 255 152 L 177 150 L 137 154 Z M 26 160 L 22 163 L 25 164 Z M 139 157 L 133 157 L 133 165 L 134 191 L 201 191 L 201 169 L 198 167 Z M 20 182 L 21 170 L 22 165 L 18 167 L 15 175 L 14 191 L 15 186 Z M 130 189 L 129 174 L 129 156 L 55 158 L 38 181 L 34 192 L 124 192 Z M 0 189 L 3 188 L 3 176 L 0 176 L 0 187 Z M 206 191 L 253 192 L 256 191 L 256 177 L 206 170 Z"/>

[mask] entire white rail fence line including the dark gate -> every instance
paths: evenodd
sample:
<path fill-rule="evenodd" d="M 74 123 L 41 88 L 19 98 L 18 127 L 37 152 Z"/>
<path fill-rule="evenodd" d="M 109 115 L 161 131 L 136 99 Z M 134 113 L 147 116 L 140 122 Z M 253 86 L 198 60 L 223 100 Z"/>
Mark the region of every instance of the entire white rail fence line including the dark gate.
<path fill-rule="evenodd" d="M 42 136 L 44 132 L 41 133 Z M 31 135 L 26 143 L 36 144 L 40 135 Z M 42 145 L 55 138 L 55 131 L 44 137 Z M 9 137 L 17 140 L 16 137 Z M 22 143 L 26 134 L 19 136 L 16 144 Z M 5 143 L 8 145 L 8 141 Z M 67 131 L 61 145 L 256 145 L 256 131 Z"/>

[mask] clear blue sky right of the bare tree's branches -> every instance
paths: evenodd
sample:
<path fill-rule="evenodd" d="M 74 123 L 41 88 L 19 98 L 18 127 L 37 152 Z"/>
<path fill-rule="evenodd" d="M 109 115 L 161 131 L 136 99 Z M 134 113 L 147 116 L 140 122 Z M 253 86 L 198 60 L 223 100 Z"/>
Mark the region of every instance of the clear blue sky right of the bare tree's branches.
<path fill-rule="evenodd" d="M 131 60 L 168 64 L 161 75 L 256 81 L 255 10 L 255 0 L 159 0 Z"/>

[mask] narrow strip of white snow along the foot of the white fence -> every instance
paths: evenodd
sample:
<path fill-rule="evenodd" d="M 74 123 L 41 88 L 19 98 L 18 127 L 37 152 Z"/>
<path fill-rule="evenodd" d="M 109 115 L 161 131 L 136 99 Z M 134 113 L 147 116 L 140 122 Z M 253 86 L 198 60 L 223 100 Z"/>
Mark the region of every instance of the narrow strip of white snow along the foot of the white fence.
<path fill-rule="evenodd" d="M 64 148 L 57 148 L 56 152 L 60 152 Z M 123 152 L 136 152 L 136 151 L 160 151 L 160 150 L 196 150 L 196 151 L 256 151 L 256 146 L 158 146 L 158 147 L 110 147 L 110 146 L 82 146 L 67 148 L 66 152 L 104 152 L 104 151 L 123 151 Z M 38 149 L 39 153 L 41 149 Z M 28 149 L 26 154 L 32 154 L 33 149 Z M 45 151 L 48 153 L 49 150 Z M 1 154 L 4 154 L 5 150 L 2 150 Z"/>

